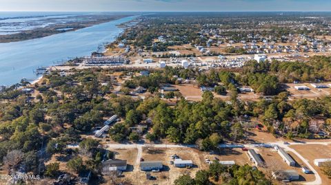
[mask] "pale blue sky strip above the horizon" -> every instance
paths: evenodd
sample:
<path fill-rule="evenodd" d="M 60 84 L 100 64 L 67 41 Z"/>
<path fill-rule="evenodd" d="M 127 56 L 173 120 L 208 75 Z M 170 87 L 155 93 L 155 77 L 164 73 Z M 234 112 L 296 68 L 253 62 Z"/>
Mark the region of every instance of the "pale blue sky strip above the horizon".
<path fill-rule="evenodd" d="M 331 11 L 331 0 L 0 0 L 0 11 Z"/>

